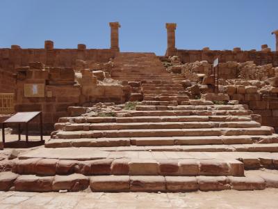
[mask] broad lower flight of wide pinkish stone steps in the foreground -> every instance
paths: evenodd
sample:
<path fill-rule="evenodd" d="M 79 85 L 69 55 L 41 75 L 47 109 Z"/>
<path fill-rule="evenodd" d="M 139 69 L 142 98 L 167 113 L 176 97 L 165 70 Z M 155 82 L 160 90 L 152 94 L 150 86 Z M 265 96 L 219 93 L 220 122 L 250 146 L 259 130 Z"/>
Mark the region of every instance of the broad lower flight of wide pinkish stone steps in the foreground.
<path fill-rule="evenodd" d="M 1 162 L 0 189 L 181 192 L 272 187 L 269 178 L 245 172 L 278 168 L 278 136 L 272 127 L 254 121 L 258 117 L 246 105 L 185 102 L 145 100 L 134 110 L 105 112 L 108 116 L 60 118 L 44 148 Z"/>

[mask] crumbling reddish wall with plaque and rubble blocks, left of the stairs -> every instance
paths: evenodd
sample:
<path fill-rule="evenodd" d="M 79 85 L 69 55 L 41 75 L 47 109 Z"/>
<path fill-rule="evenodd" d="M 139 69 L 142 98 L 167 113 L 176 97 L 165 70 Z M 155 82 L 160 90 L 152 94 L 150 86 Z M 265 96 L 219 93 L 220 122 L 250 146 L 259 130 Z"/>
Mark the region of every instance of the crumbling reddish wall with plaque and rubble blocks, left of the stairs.
<path fill-rule="evenodd" d="M 107 63 L 97 65 L 90 62 L 92 64 L 102 70 L 110 69 Z M 87 65 L 89 63 L 85 63 L 85 67 Z M 127 82 L 125 85 L 118 84 L 109 78 L 109 73 L 106 77 L 106 73 L 101 70 L 82 69 L 78 72 L 79 79 L 76 79 L 74 68 L 46 67 L 43 63 L 31 62 L 27 66 L 16 68 L 16 71 L 17 73 L 3 71 L 5 75 L 13 75 L 15 83 L 8 85 L 10 91 L 15 93 L 15 111 L 42 111 L 44 132 L 47 133 L 54 129 L 58 118 L 68 116 L 67 107 L 90 106 L 95 102 L 122 103 L 130 95 Z M 33 85 L 37 86 L 35 91 L 38 93 L 33 93 Z M 39 130 L 38 122 L 36 120 L 30 124 L 31 131 Z"/>

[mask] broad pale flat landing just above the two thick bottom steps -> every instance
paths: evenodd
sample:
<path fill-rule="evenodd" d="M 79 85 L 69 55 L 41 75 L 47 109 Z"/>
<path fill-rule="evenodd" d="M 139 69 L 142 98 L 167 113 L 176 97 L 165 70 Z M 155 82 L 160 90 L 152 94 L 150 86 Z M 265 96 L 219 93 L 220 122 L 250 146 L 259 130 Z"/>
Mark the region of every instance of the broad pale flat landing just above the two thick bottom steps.
<path fill-rule="evenodd" d="M 126 148 L 126 147 L 122 147 Z M 135 147 L 140 148 L 140 147 Z M 104 148 L 108 149 L 108 148 Z M 153 159 L 153 160 L 179 160 L 179 159 L 217 159 L 217 160 L 240 160 L 245 169 L 278 168 L 278 153 L 270 152 L 172 152 L 172 151 L 104 151 L 101 148 L 38 148 L 19 155 L 19 160 L 45 158 L 57 160 L 101 160 L 101 159 Z M 5 166 L 5 163 L 10 164 Z M 13 167 L 14 161 L 1 162 L 3 168 Z"/>

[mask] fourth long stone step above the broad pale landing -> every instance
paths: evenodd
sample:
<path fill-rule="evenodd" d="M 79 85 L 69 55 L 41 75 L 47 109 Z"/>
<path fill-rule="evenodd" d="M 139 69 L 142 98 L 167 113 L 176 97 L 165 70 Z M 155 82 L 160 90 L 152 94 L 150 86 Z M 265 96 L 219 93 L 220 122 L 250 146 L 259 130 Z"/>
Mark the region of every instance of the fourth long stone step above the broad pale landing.
<path fill-rule="evenodd" d="M 205 121 L 252 121 L 251 116 L 135 116 L 135 117 L 63 117 L 56 126 L 66 123 L 158 123 L 158 122 L 205 122 Z"/>

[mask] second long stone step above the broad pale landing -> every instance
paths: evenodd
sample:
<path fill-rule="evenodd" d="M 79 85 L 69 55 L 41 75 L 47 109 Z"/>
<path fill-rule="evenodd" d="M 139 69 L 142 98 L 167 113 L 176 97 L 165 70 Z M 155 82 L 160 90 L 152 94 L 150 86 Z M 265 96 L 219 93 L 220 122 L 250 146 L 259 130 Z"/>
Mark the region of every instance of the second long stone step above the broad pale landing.
<path fill-rule="evenodd" d="M 101 138 L 101 137 L 197 137 L 197 136 L 232 136 L 232 135 L 271 135 L 272 127 L 247 128 L 209 128 L 209 129 L 141 129 L 141 130 L 90 130 L 60 131 L 60 139 Z"/>

